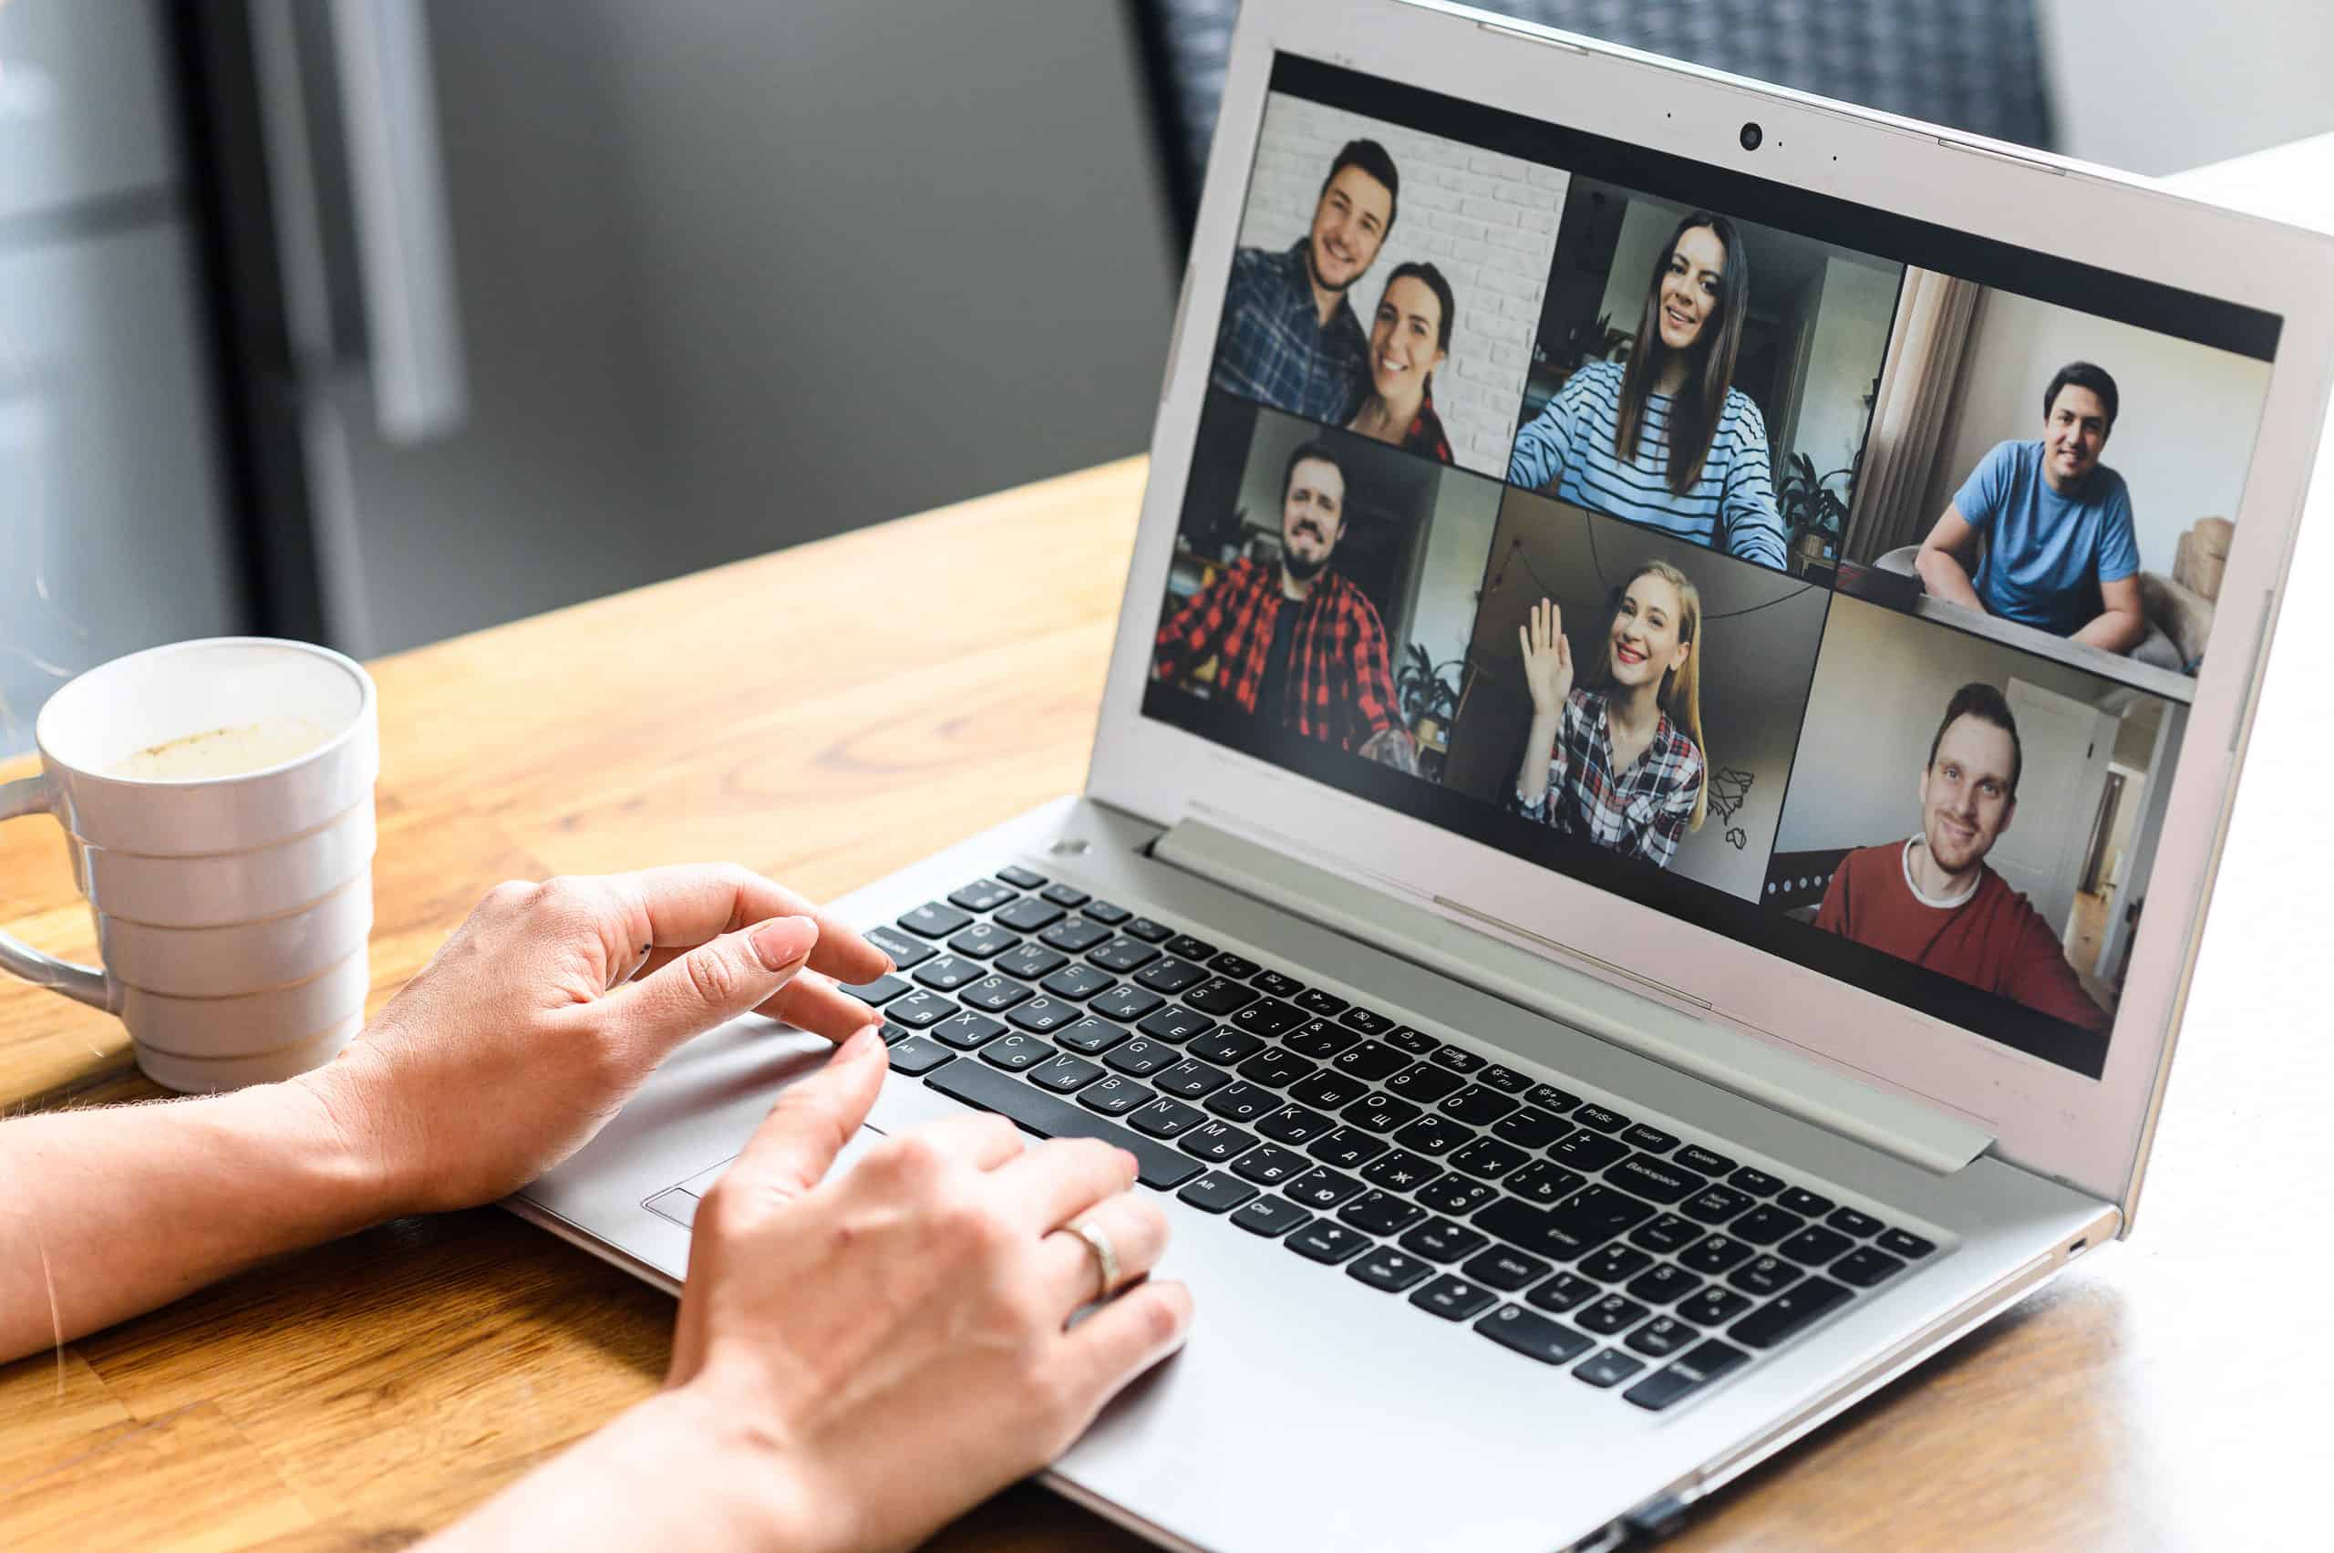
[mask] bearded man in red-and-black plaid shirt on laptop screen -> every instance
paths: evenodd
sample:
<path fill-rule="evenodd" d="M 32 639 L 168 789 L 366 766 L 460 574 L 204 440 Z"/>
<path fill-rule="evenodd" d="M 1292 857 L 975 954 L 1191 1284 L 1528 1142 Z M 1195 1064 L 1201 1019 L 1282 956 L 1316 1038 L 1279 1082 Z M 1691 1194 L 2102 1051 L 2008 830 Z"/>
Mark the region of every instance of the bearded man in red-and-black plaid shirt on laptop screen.
<path fill-rule="evenodd" d="M 1377 605 L 1330 570 L 1344 532 L 1344 465 L 1321 441 L 1281 474 L 1281 558 L 1237 560 L 1160 626 L 1162 680 L 1216 659 L 1216 698 L 1265 726 L 1414 768 L 1393 715 L 1386 626 Z"/>

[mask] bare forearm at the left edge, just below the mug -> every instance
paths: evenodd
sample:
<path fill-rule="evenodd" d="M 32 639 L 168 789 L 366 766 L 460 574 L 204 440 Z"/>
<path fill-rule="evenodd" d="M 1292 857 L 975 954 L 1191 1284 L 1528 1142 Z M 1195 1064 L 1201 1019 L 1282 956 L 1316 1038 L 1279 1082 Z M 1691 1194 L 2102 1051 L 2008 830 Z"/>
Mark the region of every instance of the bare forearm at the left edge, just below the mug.
<path fill-rule="evenodd" d="M 0 1123 L 0 1359 L 387 1212 L 301 1084 Z"/>

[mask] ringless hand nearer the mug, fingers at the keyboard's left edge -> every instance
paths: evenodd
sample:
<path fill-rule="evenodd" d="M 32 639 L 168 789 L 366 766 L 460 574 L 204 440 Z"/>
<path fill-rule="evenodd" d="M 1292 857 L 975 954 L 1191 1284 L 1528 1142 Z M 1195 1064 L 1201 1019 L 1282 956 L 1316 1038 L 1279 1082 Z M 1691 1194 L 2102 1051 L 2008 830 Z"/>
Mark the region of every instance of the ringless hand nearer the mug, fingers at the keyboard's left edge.
<path fill-rule="evenodd" d="M 808 969 L 805 969 L 808 964 Z M 682 1042 L 747 1011 L 833 1042 L 889 957 L 728 864 L 495 885 L 334 1063 L 303 1074 L 383 1217 L 471 1207 L 581 1149 Z"/>

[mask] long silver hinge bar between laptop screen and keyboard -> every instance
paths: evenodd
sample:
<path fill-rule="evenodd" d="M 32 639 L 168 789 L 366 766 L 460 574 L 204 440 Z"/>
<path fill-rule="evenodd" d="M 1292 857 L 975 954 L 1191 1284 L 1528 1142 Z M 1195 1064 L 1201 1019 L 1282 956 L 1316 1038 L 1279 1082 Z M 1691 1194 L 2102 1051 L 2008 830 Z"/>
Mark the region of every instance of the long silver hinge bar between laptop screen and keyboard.
<path fill-rule="evenodd" d="M 1951 1175 L 1993 1144 L 1970 1116 L 1783 1051 L 1701 1000 L 1512 922 L 1447 899 L 1403 899 L 1400 885 L 1354 864 L 1305 862 L 1288 843 L 1207 820 L 1176 822 L 1151 855 L 1923 1170 Z"/>

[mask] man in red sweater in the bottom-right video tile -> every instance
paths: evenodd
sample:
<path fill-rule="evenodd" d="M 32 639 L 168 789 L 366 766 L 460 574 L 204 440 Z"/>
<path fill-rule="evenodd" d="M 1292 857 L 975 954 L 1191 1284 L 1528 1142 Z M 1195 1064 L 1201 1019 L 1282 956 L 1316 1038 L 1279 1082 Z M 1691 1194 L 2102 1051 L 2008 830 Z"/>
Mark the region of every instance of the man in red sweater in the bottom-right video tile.
<path fill-rule="evenodd" d="M 2033 904 L 1986 866 L 2019 808 L 2019 724 L 1991 684 L 1963 684 L 1928 740 L 1921 834 L 1839 859 L 1816 927 L 2108 1032 Z"/>

